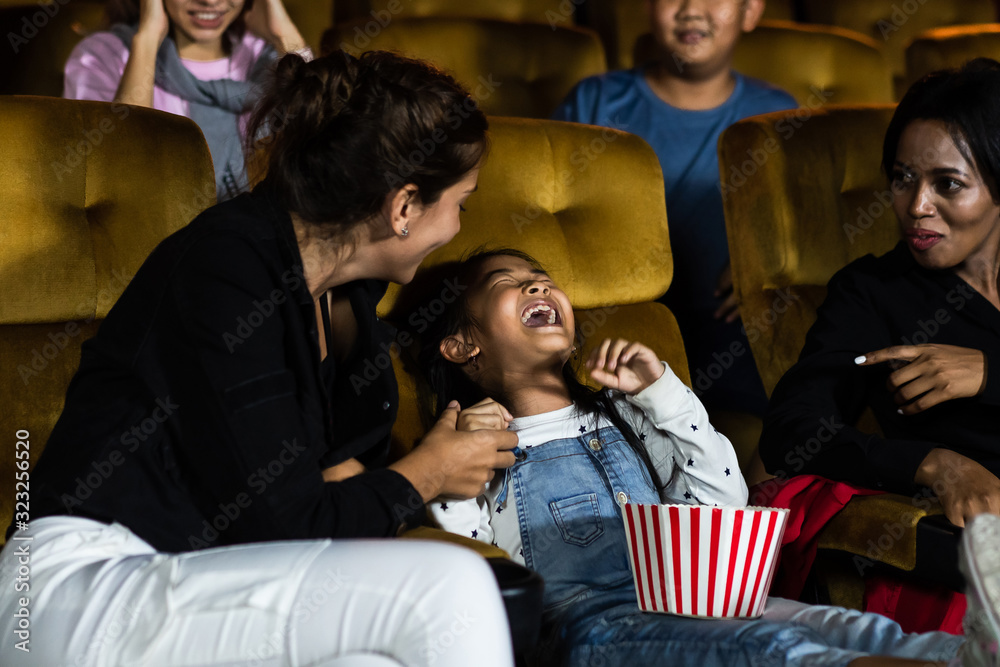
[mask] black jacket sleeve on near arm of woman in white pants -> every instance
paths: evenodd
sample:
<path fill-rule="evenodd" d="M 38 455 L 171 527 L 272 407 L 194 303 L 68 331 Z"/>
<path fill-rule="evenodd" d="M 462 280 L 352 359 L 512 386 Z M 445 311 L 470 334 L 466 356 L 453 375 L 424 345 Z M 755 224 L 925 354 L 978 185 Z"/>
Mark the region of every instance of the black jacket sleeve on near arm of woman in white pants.
<path fill-rule="evenodd" d="M 321 414 L 306 386 L 318 379 L 288 363 L 293 346 L 310 344 L 293 326 L 301 278 L 274 272 L 251 242 L 225 236 L 190 250 L 173 281 L 191 356 L 177 414 L 193 495 L 203 511 L 239 515 L 227 541 L 392 535 L 422 499 L 387 469 L 323 481 L 326 445 L 307 436 L 322 431 L 306 428 Z"/>

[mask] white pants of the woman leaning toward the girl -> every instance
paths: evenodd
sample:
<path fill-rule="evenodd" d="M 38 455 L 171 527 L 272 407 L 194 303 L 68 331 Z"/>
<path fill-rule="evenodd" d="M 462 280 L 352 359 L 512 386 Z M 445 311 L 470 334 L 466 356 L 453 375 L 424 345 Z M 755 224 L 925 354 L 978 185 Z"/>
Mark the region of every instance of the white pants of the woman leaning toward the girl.
<path fill-rule="evenodd" d="M 492 572 L 461 547 L 308 540 L 164 554 L 120 524 L 76 517 L 14 538 L 0 552 L 5 667 L 513 664 Z M 29 652 L 17 647 L 25 626 Z"/>

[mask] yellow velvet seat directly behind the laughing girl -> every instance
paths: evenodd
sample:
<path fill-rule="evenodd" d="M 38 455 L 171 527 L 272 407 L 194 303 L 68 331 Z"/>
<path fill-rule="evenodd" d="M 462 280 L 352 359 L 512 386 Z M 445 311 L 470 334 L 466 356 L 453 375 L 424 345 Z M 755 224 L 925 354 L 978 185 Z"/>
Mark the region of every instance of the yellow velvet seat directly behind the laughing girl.
<path fill-rule="evenodd" d="M 605 337 L 640 340 L 690 384 L 684 344 L 670 311 L 654 300 L 670 285 L 673 257 L 663 176 L 638 137 L 573 123 L 490 119 L 492 147 L 462 230 L 424 262 L 461 258 L 483 244 L 533 255 L 566 290 L 584 337 L 580 359 Z M 589 158 L 581 159 L 589 150 Z M 397 292 L 380 310 L 390 315 Z M 394 355 L 400 407 L 395 454 L 423 435 L 415 382 Z"/>

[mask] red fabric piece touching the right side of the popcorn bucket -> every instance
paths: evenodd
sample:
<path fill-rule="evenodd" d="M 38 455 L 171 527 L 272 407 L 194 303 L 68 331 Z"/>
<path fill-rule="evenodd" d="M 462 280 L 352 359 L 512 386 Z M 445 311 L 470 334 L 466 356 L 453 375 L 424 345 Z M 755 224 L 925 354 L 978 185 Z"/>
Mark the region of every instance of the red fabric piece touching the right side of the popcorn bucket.
<path fill-rule="evenodd" d="M 818 475 L 769 479 L 754 485 L 750 489 L 751 505 L 791 510 L 785 535 L 781 538 L 781 557 L 771 595 L 798 600 L 816 560 L 820 532 L 851 498 L 875 493 L 881 491 L 834 482 Z"/>

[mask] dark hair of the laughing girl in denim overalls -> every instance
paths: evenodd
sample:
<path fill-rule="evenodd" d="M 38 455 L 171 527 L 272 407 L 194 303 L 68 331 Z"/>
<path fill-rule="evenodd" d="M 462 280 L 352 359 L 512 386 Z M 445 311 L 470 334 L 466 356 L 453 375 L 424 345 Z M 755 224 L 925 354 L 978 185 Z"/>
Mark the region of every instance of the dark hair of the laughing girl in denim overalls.
<path fill-rule="evenodd" d="M 511 248 L 478 249 L 474 250 L 461 262 L 454 262 L 441 267 L 435 267 L 431 272 L 436 280 L 435 288 L 424 291 L 423 301 L 426 303 L 427 296 L 435 297 L 436 303 L 444 305 L 443 311 L 438 308 L 430 308 L 423 312 L 433 314 L 435 310 L 440 315 L 421 318 L 418 320 L 422 333 L 417 335 L 420 340 L 420 352 L 417 363 L 420 370 L 421 384 L 419 387 L 419 398 L 421 412 L 425 420 L 425 425 L 430 426 L 436 417 L 443 411 L 444 406 L 452 400 L 457 400 L 463 406 L 470 406 L 487 398 L 486 392 L 475 382 L 469 379 L 458 364 L 448 361 L 441 356 L 441 341 L 448 336 L 455 335 L 461 331 L 471 331 L 479 327 L 479 322 L 469 310 L 470 292 L 475 289 L 475 281 L 479 277 L 479 271 L 483 263 L 492 257 L 517 257 L 531 264 L 534 268 L 544 271 L 539 263 L 530 255 Z M 450 283 L 448 281 L 451 281 Z M 426 283 L 426 280 L 421 282 Z M 454 299 L 449 299 L 447 304 L 440 296 L 453 292 L 447 285 L 460 285 L 464 289 Z M 410 322 L 414 320 L 411 318 Z M 580 339 L 577 332 L 577 339 Z M 571 361 L 567 361 L 562 368 L 563 380 L 569 390 L 569 397 L 580 414 L 591 415 L 596 423 L 599 417 L 605 417 L 624 436 L 629 447 L 635 451 L 639 459 L 645 464 L 649 471 L 650 479 L 657 489 L 664 488 L 668 480 L 661 480 L 649 458 L 649 452 L 645 445 L 639 440 L 635 430 L 629 424 L 618 409 L 615 402 L 605 391 L 591 389 L 577 379 L 576 368 Z M 502 396 L 494 396 L 502 402 Z"/>

